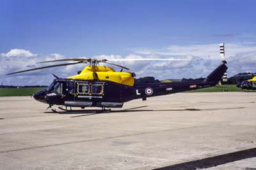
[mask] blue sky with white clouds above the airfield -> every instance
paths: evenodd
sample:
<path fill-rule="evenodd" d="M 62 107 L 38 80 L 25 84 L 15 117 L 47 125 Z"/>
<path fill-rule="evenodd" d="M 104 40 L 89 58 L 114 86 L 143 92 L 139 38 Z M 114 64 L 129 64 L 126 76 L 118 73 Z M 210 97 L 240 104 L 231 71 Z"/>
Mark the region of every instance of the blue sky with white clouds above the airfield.
<path fill-rule="evenodd" d="M 62 58 L 197 59 L 118 64 L 137 78 L 205 77 L 221 62 L 222 42 L 228 76 L 256 72 L 255 6 L 235 0 L 0 0 L 0 83 L 47 85 L 51 73 L 67 77 L 84 67 L 5 75 Z"/>

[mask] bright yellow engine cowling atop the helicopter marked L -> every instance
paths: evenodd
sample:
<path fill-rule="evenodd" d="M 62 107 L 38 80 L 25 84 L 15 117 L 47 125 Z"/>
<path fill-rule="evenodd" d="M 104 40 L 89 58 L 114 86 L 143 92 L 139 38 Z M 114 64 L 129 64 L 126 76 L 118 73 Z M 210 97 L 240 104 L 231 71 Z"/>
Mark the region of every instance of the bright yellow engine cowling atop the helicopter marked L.
<path fill-rule="evenodd" d="M 112 81 L 127 86 L 134 85 L 134 77 L 129 72 L 115 72 L 113 68 L 106 66 L 86 66 L 79 75 L 67 77 L 67 79 Z"/>

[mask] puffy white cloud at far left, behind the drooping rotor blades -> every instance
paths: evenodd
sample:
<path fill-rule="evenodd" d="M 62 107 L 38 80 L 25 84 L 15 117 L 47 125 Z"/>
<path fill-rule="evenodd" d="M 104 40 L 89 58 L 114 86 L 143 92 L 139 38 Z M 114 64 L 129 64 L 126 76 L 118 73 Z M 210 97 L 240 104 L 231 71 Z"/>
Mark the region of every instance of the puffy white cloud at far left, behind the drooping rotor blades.
<path fill-rule="evenodd" d="M 30 68 L 44 66 L 36 64 L 40 61 L 65 58 L 61 54 L 41 55 L 33 54 L 29 50 L 12 49 L 0 55 L 0 83 L 13 85 L 49 84 L 52 81 L 50 74 L 56 68 L 48 70 L 35 70 L 33 72 L 20 73 L 15 75 L 5 75 L 10 72 L 27 70 Z M 55 71 L 54 71 L 55 72 Z"/>

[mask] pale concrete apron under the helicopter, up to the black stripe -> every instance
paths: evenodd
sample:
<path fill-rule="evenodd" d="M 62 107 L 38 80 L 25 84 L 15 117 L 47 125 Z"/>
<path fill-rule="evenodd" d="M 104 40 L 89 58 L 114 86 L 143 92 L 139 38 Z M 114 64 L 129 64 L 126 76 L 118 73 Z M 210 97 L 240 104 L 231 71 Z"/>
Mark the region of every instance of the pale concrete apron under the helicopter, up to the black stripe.
<path fill-rule="evenodd" d="M 56 114 L 0 97 L 0 169 L 154 169 L 255 148 L 255 102 L 255 93 L 177 93 L 120 112 Z"/>

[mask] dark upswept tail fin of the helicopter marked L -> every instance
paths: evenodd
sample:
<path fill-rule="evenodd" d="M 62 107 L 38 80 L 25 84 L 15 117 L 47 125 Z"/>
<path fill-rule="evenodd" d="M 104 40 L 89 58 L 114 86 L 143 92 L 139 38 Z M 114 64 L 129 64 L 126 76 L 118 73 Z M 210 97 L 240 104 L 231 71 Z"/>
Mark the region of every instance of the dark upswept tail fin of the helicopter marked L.
<path fill-rule="evenodd" d="M 205 82 L 214 82 L 217 84 L 222 79 L 227 69 L 227 61 L 223 60 L 222 63 L 205 78 Z"/>

